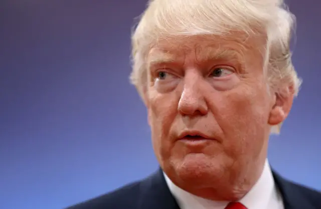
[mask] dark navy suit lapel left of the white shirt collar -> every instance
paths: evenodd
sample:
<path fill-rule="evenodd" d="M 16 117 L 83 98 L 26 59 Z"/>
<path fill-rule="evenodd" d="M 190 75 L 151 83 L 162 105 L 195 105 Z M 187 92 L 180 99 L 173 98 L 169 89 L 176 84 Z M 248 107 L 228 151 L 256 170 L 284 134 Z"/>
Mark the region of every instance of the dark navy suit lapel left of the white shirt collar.
<path fill-rule="evenodd" d="M 140 194 L 138 208 L 180 209 L 169 187 L 167 186 L 161 168 L 141 181 Z"/>

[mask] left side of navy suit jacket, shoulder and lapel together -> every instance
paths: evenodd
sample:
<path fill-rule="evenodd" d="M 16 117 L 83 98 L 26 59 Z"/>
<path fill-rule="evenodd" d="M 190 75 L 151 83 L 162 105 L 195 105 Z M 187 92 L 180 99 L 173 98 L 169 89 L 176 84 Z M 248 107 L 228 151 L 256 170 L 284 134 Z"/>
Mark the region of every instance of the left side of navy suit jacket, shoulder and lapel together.
<path fill-rule="evenodd" d="M 161 168 L 149 176 L 66 209 L 178 208 Z"/>

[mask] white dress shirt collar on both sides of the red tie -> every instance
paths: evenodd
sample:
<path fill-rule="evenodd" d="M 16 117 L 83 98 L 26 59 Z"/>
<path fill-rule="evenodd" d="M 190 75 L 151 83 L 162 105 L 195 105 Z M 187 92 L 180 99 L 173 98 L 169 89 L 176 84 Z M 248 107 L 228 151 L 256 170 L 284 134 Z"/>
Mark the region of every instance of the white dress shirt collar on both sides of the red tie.
<path fill-rule="evenodd" d="M 181 209 L 224 209 L 227 201 L 213 201 L 191 194 L 177 185 L 164 173 L 166 182 Z M 281 194 L 273 179 L 268 160 L 252 189 L 239 200 L 248 209 L 284 209 Z"/>

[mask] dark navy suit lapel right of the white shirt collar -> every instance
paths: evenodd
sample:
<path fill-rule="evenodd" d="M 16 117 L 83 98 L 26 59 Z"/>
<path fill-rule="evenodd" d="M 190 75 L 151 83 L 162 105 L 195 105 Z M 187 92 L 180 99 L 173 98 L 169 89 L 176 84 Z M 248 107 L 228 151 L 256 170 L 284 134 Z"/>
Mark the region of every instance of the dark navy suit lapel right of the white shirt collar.
<path fill-rule="evenodd" d="M 272 170 L 274 181 L 281 192 L 284 209 L 312 209 L 314 208 L 308 199 L 301 193 L 298 185 L 284 179 Z"/>

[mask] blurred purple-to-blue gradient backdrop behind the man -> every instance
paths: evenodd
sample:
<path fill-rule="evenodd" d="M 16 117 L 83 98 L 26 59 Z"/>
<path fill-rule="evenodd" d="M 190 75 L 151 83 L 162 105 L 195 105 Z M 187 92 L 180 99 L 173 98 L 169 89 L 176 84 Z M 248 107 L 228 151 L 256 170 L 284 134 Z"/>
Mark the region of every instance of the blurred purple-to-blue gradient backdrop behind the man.
<path fill-rule="evenodd" d="M 55 209 L 157 168 L 128 82 L 130 30 L 146 0 L 2 0 L 0 208 Z M 269 159 L 321 189 L 321 1 L 291 0 L 303 78 Z"/>

